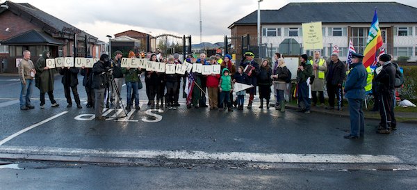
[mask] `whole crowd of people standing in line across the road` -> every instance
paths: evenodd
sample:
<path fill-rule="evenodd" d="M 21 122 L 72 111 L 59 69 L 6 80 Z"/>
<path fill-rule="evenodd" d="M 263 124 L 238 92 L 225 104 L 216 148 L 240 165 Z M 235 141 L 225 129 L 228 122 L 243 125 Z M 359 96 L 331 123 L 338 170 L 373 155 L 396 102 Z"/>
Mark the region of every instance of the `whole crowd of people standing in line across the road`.
<path fill-rule="evenodd" d="M 56 69 L 50 69 L 46 65 L 46 59 L 49 58 L 50 52 L 44 51 L 42 57 L 34 64 L 31 61 L 31 52 L 23 52 L 23 60 L 19 64 L 19 76 L 22 82 L 20 95 L 20 109 L 34 109 L 31 104 L 31 86 L 35 79 L 35 86 L 40 89 L 40 108 L 44 109 L 45 93 L 48 93 L 52 107 L 58 107 L 59 104 L 54 100 L 54 74 Z M 142 88 L 140 74 L 145 74 L 147 105 L 150 109 L 160 109 L 165 106 L 167 109 L 176 110 L 180 106 L 178 100 L 181 92 L 183 97 L 187 98 L 187 108 L 195 109 L 208 107 L 219 111 L 233 111 L 233 105 L 238 110 L 243 110 L 245 94 L 249 94 L 247 109 L 252 109 L 254 95 L 259 92 L 260 106 L 263 109 L 263 100 L 266 108 L 270 108 L 271 86 L 275 94 L 275 109 L 285 111 L 284 94 L 287 92 L 288 83 L 291 82 L 291 72 L 286 67 L 285 59 L 281 54 L 274 55 L 274 62 L 268 63 L 268 60 L 262 61 L 261 65 L 256 63 L 254 54 L 246 52 L 240 61 L 237 70 L 236 65 L 231 61 L 229 54 L 224 58 L 219 54 L 206 58 L 206 54 L 200 54 L 199 58 L 193 54 L 188 55 L 184 60 L 188 63 L 201 63 L 202 65 L 220 64 L 220 74 L 204 75 L 199 72 L 186 74 L 165 74 L 163 72 L 146 71 L 142 68 L 122 68 L 122 52 L 116 51 L 115 58 L 107 54 L 102 54 L 99 61 L 93 65 L 93 68 L 81 68 L 83 86 L 87 93 L 87 107 L 95 107 L 95 119 L 105 120 L 102 116 L 104 108 L 104 97 L 111 93 L 110 102 L 115 109 L 121 108 L 120 90 L 123 81 L 126 84 L 126 107 L 130 111 L 133 108 L 140 109 L 138 90 Z M 129 58 L 135 58 L 133 52 L 129 52 Z M 363 136 L 363 111 L 362 105 L 365 99 L 365 88 L 370 81 L 374 81 L 377 88 L 375 97 L 379 100 L 379 113 L 381 122 L 377 129 L 378 133 L 389 134 L 396 129 L 396 122 L 393 113 L 394 104 L 394 80 L 395 65 L 391 64 L 391 56 L 384 54 L 379 58 L 379 64 L 382 70 L 375 77 L 369 77 L 369 71 L 361 63 L 363 56 L 361 54 L 352 54 L 352 64 L 349 69 L 342 63 L 338 54 L 333 53 L 327 62 L 320 57 L 320 52 L 315 52 L 313 60 L 309 60 L 306 54 L 300 56 L 300 65 L 297 69 L 297 97 L 300 112 L 310 113 L 311 106 L 325 106 L 324 89 L 327 89 L 329 96 L 329 105 L 326 109 L 341 110 L 343 106 L 343 93 L 347 98 L 351 118 L 350 134 L 345 138 L 357 139 Z M 149 61 L 161 61 L 166 64 L 182 64 L 179 60 L 179 54 L 174 54 L 169 58 L 158 58 L 156 54 L 149 57 Z M 70 92 L 74 96 L 77 108 L 81 109 L 81 102 L 77 91 L 79 84 L 77 74 L 79 68 L 63 67 L 58 68 L 59 73 L 63 76 L 62 83 L 65 89 L 67 107 L 72 106 Z M 346 72 L 348 72 L 346 77 Z M 181 79 L 183 86 L 181 90 Z M 193 88 L 186 87 L 186 84 L 193 85 Z M 247 84 L 250 88 L 240 90 L 234 97 L 234 84 Z M 344 92 L 343 90 L 344 86 Z M 372 84 L 372 82 L 371 82 Z M 193 89 L 185 93 L 187 90 Z M 206 104 L 206 93 L 208 93 L 208 105 Z M 335 97 L 337 108 L 335 108 Z M 312 102 L 311 102 L 312 101 Z M 165 104 L 164 104 L 165 102 Z"/>

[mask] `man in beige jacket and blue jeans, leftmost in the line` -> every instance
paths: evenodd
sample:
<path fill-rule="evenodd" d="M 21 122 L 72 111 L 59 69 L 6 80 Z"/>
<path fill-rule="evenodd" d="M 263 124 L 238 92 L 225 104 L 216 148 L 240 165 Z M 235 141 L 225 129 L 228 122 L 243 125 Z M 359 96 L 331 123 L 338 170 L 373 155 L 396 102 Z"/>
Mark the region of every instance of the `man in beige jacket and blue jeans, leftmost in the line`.
<path fill-rule="evenodd" d="M 35 74 L 36 70 L 35 65 L 31 61 L 31 52 L 24 50 L 23 59 L 19 63 L 19 78 L 22 87 L 19 97 L 21 110 L 35 108 L 35 106 L 31 105 L 33 77 L 35 77 Z"/>

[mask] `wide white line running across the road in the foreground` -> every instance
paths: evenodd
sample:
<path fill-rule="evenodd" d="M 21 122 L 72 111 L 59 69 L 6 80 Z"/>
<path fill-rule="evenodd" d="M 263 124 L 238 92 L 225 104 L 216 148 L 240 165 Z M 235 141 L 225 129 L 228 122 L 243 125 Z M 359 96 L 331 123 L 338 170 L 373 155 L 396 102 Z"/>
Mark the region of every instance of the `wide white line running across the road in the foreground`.
<path fill-rule="evenodd" d="M 400 164 L 393 155 L 336 155 L 336 154 L 281 154 L 255 152 L 203 152 L 168 150 L 108 150 L 54 147 L 1 146 L 0 153 L 24 155 L 50 155 L 71 157 L 156 159 L 205 159 L 223 161 L 248 161 L 268 163 L 332 163 L 332 164 Z"/>

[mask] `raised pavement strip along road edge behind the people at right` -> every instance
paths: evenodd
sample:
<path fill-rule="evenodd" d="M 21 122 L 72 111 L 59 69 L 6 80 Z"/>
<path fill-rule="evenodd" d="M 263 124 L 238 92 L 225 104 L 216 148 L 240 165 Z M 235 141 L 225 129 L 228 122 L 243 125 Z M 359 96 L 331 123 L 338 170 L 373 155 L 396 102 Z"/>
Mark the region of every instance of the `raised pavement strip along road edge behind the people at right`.
<path fill-rule="evenodd" d="M 286 108 L 298 109 L 297 105 L 294 105 L 294 104 L 286 104 Z M 311 106 L 311 112 L 325 113 L 325 114 L 334 115 L 334 116 L 349 117 L 349 107 L 347 107 L 346 105 L 343 107 L 341 111 L 327 110 L 325 109 L 325 107 L 322 107 L 322 106 Z M 366 119 L 373 119 L 373 120 L 380 119 L 379 112 L 377 111 L 363 110 L 363 113 Z M 397 120 L 397 122 L 417 123 L 417 113 L 396 111 L 395 119 Z"/>

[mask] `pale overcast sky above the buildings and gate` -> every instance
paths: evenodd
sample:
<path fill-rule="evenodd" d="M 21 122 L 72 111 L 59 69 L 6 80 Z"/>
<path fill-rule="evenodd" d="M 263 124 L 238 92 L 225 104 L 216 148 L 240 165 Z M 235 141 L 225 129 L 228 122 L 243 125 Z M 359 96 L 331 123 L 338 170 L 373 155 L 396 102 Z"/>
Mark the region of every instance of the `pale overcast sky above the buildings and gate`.
<path fill-rule="evenodd" d="M 279 9 L 290 2 L 334 1 L 264 0 L 261 2 L 261 9 Z M 0 2 L 3 3 L 4 0 Z M 108 41 L 106 35 L 133 29 L 154 36 L 162 33 L 192 35 L 193 44 L 199 43 L 198 0 L 13 0 L 13 2 L 31 3 L 103 41 Z M 397 0 L 397 2 L 416 7 L 416 0 Z M 257 0 L 202 0 L 203 42 L 222 42 L 224 35 L 230 35 L 227 26 L 257 10 L 257 4 Z"/>

